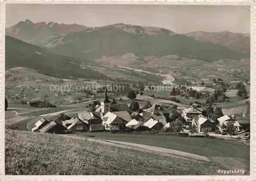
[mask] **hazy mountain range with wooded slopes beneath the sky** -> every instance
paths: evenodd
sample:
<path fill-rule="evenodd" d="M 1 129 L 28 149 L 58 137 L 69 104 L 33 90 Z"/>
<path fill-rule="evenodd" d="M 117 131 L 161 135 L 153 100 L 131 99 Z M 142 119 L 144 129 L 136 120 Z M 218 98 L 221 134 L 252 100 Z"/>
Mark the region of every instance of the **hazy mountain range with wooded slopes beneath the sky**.
<path fill-rule="evenodd" d="M 232 32 L 177 34 L 159 27 L 121 23 L 92 28 L 27 19 L 7 28 L 6 35 L 7 69 L 26 66 L 60 77 L 103 78 L 105 75 L 95 67 L 129 65 L 125 61 L 156 69 L 154 59 L 159 58 L 172 66 L 164 57 L 214 62 L 250 56 L 250 36 Z"/>

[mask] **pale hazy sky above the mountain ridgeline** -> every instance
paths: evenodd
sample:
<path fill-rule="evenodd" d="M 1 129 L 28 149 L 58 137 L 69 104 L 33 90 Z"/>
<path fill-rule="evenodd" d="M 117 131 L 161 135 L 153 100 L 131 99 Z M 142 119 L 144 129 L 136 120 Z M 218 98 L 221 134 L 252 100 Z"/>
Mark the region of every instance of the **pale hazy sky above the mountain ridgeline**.
<path fill-rule="evenodd" d="M 124 23 L 161 27 L 176 33 L 250 33 L 250 13 L 246 7 L 231 5 L 6 4 L 6 27 L 30 19 L 89 27 Z"/>

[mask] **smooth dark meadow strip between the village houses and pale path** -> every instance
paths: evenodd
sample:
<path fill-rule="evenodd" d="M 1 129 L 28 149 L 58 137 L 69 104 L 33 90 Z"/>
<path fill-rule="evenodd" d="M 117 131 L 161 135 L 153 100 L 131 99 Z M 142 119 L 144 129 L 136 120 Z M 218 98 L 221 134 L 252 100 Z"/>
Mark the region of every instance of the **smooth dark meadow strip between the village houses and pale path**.
<path fill-rule="evenodd" d="M 84 132 L 80 134 L 104 140 L 131 142 L 185 151 L 209 158 L 212 156 L 233 157 L 246 160 L 248 164 L 250 161 L 250 146 L 239 143 L 237 140 L 177 137 L 176 135 L 167 134 L 164 142 L 163 133 L 159 135 L 113 134 L 110 132 Z"/>

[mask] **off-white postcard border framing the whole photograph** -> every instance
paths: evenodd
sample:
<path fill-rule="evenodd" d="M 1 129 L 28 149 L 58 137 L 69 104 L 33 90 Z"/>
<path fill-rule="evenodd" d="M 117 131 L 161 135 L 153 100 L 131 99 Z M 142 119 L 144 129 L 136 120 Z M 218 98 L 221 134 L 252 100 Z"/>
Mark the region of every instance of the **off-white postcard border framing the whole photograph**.
<path fill-rule="evenodd" d="M 250 138 L 250 175 L 249 176 L 219 176 L 219 175 L 206 175 L 206 176 L 132 176 L 132 175 L 34 175 L 34 176 L 27 176 L 27 175 L 5 175 L 5 116 L 4 116 L 4 98 L 5 98 L 5 4 L 139 4 L 139 5 L 239 5 L 239 6 L 245 6 L 250 5 L 251 9 L 248 9 L 251 11 L 251 31 L 250 31 L 250 37 L 251 37 L 251 54 L 250 54 L 250 84 L 253 86 L 250 86 L 250 131 L 251 131 L 251 138 Z M 246 8 L 246 7 L 245 7 Z M 254 45 L 256 45 L 256 37 L 255 37 L 255 19 L 256 19 L 256 6 L 255 6 L 255 0 L 253 1 L 236 1 L 236 0 L 212 0 L 212 1 L 193 1 L 193 0 L 187 0 L 187 1 L 175 1 L 175 0 L 123 0 L 123 1 L 116 1 L 116 0 L 105 0 L 105 1 L 99 1 L 99 0 L 88 0 L 88 1 L 68 1 L 68 0 L 62 0 L 62 1 L 52 1 L 52 0 L 46 0 L 46 1 L 15 1 L 15 0 L 2 0 L 1 1 L 1 21 L 0 21 L 0 29 L 1 29 L 1 41 L 0 41 L 0 64 L 1 64 L 1 78 L 0 78 L 0 85 L 1 85 L 1 102 L 0 102 L 0 108 L 1 108 L 1 117 L 0 117 L 0 180 L 254 180 L 256 179 L 256 167 L 255 167 L 255 156 L 256 156 L 256 143 L 254 143 L 254 140 L 256 139 L 256 115 L 255 115 L 255 109 L 256 109 L 256 85 L 255 85 L 255 79 L 256 79 L 256 60 L 255 60 L 255 54 L 256 49 Z"/>

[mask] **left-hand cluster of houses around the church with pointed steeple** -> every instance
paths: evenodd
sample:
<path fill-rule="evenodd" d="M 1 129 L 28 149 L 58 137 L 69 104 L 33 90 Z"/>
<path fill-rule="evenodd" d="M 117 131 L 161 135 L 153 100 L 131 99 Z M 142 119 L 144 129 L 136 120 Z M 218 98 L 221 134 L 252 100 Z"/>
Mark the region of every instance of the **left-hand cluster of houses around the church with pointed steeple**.
<path fill-rule="evenodd" d="M 35 123 L 32 131 L 57 133 L 118 130 L 120 125 L 133 130 L 160 130 L 167 124 L 168 117 L 168 112 L 161 110 L 158 104 L 144 109 L 143 112 L 132 111 L 127 103 L 112 104 L 105 89 L 105 98 L 95 111 L 80 111 L 77 116 L 62 121 L 62 128 L 56 122 L 42 118 Z"/>

